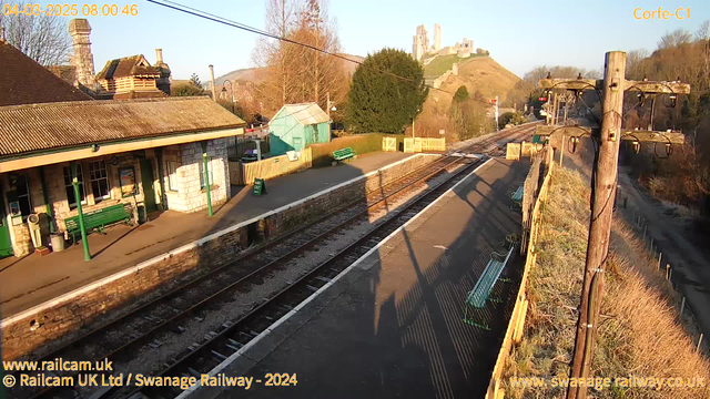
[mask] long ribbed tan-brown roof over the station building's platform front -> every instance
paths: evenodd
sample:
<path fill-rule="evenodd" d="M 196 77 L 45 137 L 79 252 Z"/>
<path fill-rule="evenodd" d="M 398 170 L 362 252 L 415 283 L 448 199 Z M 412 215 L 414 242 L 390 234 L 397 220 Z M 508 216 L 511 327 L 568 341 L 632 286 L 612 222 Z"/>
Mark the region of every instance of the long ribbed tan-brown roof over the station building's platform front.
<path fill-rule="evenodd" d="M 206 96 L 0 106 L 0 156 L 244 125 Z"/>

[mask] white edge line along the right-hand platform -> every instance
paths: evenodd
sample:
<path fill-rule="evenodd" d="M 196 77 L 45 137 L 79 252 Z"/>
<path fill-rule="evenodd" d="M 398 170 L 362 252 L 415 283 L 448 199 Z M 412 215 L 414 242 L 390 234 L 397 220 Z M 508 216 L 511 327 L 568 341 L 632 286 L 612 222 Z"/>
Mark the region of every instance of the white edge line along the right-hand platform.
<path fill-rule="evenodd" d="M 377 245 L 375 245 L 374 247 L 372 247 L 368 252 L 365 253 L 365 255 L 361 256 L 359 258 L 357 258 L 357 260 L 353 262 L 353 264 L 351 264 L 349 266 L 347 266 L 343 272 L 341 272 L 337 276 L 335 276 L 332 280 L 329 280 L 328 283 L 326 283 L 323 287 L 318 288 L 318 290 L 316 290 L 315 293 L 313 293 L 310 297 L 307 297 L 306 299 L 304 299 L 301 304 L 298 304 L 298 306 L 296 306 L 295 308 L 293 308 L 291 311 L 288 311 L 287 314 L 285 314 L 284 316 L 282 316 L 278 320 L 274 321 L 271 326 L 268 326 L 265 330 L 263 330 L 260 335 L 257 335 L 256 337 L 254 337 L 254 339 L 252 339 L 251 341 L 248 341 L 245 346 L 243 346 L 242 348 L 240 348 L 240 350 L 235 351 L 234 354 L 232 354 L 230 357 L 227 357 L 226 359 L 224 359 L 221 364 L 219 364 L 217 366 L 215 366 L 212 370 L 210 370 L 210 372 L 207 372 L 207 375 L 210 377 L 214 377 L 216 376 L 220 371 L 222 371 L 223 369 L 225 369 L 229 365 L 231 365 L 234 360 L 236 360 L 236 358 L 239 358 L 240 356 L 242 356 L 248 348 L 251 348 L 252 346 L 256 345 L 262 338 L 264 338 L 265 336 L 267 336 L 272 330 L 274 330 L 276 327 L 278 327 L 280 325 L 282 325 L 283 323 L 285 323 L 286 320 L 288 320 L 288 318 L 291 318 L 291 316 L 295 315 L 298 310 L 303 309 L 303 307 L 305 307 L 307 304 L 310 304 L 313 299 L 315 299 L 318 295 L 321 295 L 324 290 L 326 290 L 328 287 L 331 287 L 333 284 L 335 284 L 338 279 L 341 279 L 343 276 L 345 276 L 349 270 L 352 270 L 354 267 L 356 267 L 357 265 L 359 265 L 361 263 L 363 263 L 365 259 L 367 259 L 367 257 L 369 257 L 369 255 L 372 255 L 375 250 L 379 249 L 381 246 L 383 246 L 385 243 L 387 243 L 392 237 L 394 237 L 395 235 L 397 235 L 399 232 L 402 232 L 403 229 L 405 229 L 412 222 L 416 221 L 419 216 L 424 215 L 430 207 L 433 207 L 434 205 L 436 205 L 439 201 L 442 201 L 442 198 L 447 197 L 449 193 L 454 192 L 454 190 L 456 190 L 456 187 L 458 187 L 459 185 L 466 183 L 468 181 L 468 178 L 470 176 L 473 176 L 476 172 L 478 172 L 479 168 L 484 167 L 485 165 L 487 165 L 490 161 L 493 161 L 494 158 L 488 158 L 486 162 L 484 162 L 481 165 L 479 165 L 478 167 L 476 167 L 474 171 L 471 171 L 469 174 L 466 175 L 466 177 L 462 178 L 460 182 L 456 183 L 453 187 L 450 187 L 449 190 L 447 190 L 446 192 L 444 192 L 442 195 L 439 195 L 438 198 L 434 200 L 434 202 L 432 202 L 429 205 L 427 205 L 424 209 L 419 211 L 419 213 L 417 213 L 416 215 L 414 215 L 414 217 L 412 217 L 410 219 L 408 219 L 405 224 L 403 224 L 402 226 L 397 227 L 397 229 L 395 229 L 394 232 L 389 233 L 389 235 L 387 237 L 385 237 L 383 241 L 381 241 L 379 243 L 377 243 Z M 201 386 L 200 385 L 194 385 L 190 388 L 187 388 L 186 390 L 182 391 L 182 393 L 180 393 L 179 396 L 175 397 L 175 399 L 183 399 L 189 397 L 190 395 L 192 395 L 195 390 L 197 390 Z"/>

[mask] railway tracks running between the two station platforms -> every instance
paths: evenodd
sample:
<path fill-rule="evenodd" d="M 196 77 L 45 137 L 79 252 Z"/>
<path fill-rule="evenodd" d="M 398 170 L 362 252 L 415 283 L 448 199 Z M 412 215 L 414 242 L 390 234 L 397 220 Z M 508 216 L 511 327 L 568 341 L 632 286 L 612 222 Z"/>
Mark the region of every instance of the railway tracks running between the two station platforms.
<path fill-rule="evenodd" d="M 487 149 L 491 144 L 517 137 L 529 133 L 529 126 L 514 129 L 505 134 L 475 143 L 467 151 Z M 195 370 L 211 369 L 210 365 L 222 361 L 240 347 L 248 342 L 261 330 L 265 329 L 290 311 L 304 298 L 310 296 L 318 287 L 325 285 L 331 278 L 341 273 L 347 265 L 387 236 L 408 217 L 418 213 L 428 203 L 438 197 L 470 171 L 478 161 L 460 156 L 443 156 L 440 160 L 425 165 L 397 181 L 383 186 L 376 192 L 365 195 L 365 200 L 355 200 L 341 208 L 331 212 L 321 218 L 296 228 L 280 238 L 267 244 L 247 250 L 229 265 L 196 277 L 169 293 L 144 304 L 128 315 L 106 323 L 88 334 L 82 335 L 65 346 L 43 356 L 39 360 L 89 360 L 109 358 L 114 362 L 130 359 L 139 348 L 162 345 L 156 337 L 161 335 L 182 334 L 182 323 L 190 318 L 200 318 L 205 313 L 217 311 L 221 307 L 233 301 L 236 293 L 248 291 L 251 287 L 261 284 L 270 275 L 284 270 L 290 262 L 297 259 L 308 250 L 317 248 L 318 243 L 337 236 L 347 226 L 367 218 L 369 214 L 382 211 L 397 198 L 420 187 L 422 184 L 438 176 L 449 174 L 443 182 L 429 188 L 425 194 L 410 201 L 402 209 L 394 212 L 394 216 L 385 217 L 385 222 L 378 224 L 355 243 L 333 254 L 333 256 L 318 264 L 310 272 L 302 274 L 288 286 L 277 291 L 260 304 L 253 304 L 252 308 L 235 321 L 227 321 L 209 332 L 202 342 L 194 342 L 190 347 L 176 354 L 173 359 L 163 365 L 160 376 L 194 375 Z M 409 201 L 409 200 L 407 200 Z M 366 249 L 367 248 L 367 249 Z M 210 349 L 216 348 L 216 349 Z M 225 349 L 226 348 L 226 349 Z M 203 354 L 203 355 L 200 355 Z M 207 356 L 205 356 L 206 354 Z M 78 372 L 57 374 L 63 376 L 77 376 Z M 75 397 L 71 387 L 48 387 L 42 389 L 26 389 L 13 391 L 17 398 L 49 398 L 49 397 Z M 130 396 L 125 389 L 104 389 L 100 392 L 104 396 Z M 171 391 L 142 391 L 139 395 L 150 393 L 149 397 L 170 397 L 176 393 Z"/>

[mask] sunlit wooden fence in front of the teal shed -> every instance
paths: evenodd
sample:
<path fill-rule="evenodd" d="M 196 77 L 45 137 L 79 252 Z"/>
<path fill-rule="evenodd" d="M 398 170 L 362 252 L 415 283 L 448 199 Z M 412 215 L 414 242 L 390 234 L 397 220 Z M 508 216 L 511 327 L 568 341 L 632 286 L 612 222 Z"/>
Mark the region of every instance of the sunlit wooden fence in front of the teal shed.
<path fill-rule="evenodd" d="M 230 183 L 248 185 L 253 184 L 255 178 L 273 178 L 310 168 L 312 165 L 313 153 L 311 149 L 302 150 L 301 156 L 296 161 L 291 161 L 288 155 L 281 155 L 246 164 L 230 162 Z"/>

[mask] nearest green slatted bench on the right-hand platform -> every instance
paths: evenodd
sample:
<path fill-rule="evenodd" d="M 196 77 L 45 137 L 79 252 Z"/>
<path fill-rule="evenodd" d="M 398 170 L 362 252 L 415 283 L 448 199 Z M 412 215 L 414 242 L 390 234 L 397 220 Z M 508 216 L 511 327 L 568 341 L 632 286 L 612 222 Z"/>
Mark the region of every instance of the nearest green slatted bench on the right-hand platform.
<path fill-rule="evenodd" d="M 500 273 L 506 267 L 510 258 L 514 256 L 515 245 L 510 246 L 508 253 L 503 255 L 498 253 L 490 254 L 490 260 L 486 265 L 484 273 L 478 278 L 478 282 L 474 286 L 464 303 L 464 323 L 480 327 L 486 330 L 490 330 L 487 324 L 484 321 L 477 321 L 475 318 L 479 311 L 486 307 L 486 303 L 490 299 L 490 291 L 496 283 L 500 279 Z M 506 279 L 508 280 L 508 279 Z M 500 301 L 500 299 L 490 299 L 493 301 Z"/>

